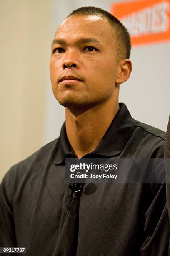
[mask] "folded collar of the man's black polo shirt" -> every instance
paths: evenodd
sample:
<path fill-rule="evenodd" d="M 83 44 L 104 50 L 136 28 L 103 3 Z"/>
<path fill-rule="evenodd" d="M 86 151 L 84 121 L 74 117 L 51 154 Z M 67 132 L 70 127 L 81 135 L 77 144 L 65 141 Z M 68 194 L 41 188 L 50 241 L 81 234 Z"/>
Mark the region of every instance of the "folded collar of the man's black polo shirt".
<path fill-rule="evenodd" d="M 128 108 L 124 103 L 119 103 L 119 106 L 120 109 L 112 120 L 112 123 L 105 132 L 101 141 L 92 152 L 93 154 L 109 157 L 116 156 L 122 152 L 123 148 L 125 148 L 125 145 L 133 133 L 135 119 L 131 117 Z M 61 128 L 55 164 L 62 163 L 65 157 L 71 153 L 64 122 Z"/>

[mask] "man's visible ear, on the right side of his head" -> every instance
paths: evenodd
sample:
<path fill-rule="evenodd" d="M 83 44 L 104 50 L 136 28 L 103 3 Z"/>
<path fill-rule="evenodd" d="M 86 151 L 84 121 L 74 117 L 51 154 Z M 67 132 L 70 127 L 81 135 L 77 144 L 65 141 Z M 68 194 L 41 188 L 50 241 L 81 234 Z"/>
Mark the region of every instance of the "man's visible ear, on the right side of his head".
<path fill-rule="evenodd" d="M 130 59 L 124 59 L 120 61 L 118 64 L 118 74 L 117 74 L 116 83 L 122 84 L 125 81 L 127 81 L 132 72 L 132 68 L 133 68 L 132 62 L 130 61 Z"/>

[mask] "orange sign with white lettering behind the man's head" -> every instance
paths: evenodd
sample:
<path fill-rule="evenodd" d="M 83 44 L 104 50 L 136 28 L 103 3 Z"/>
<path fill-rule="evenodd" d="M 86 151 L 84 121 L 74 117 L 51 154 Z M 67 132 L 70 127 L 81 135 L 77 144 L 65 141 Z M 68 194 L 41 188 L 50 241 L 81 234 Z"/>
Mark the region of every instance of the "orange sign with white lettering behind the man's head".
<path fill-rule="evenodd" d="M 133 46 L 170 41 L 170 0 L 114 3 L 111 13 L 128 29 Z"/>

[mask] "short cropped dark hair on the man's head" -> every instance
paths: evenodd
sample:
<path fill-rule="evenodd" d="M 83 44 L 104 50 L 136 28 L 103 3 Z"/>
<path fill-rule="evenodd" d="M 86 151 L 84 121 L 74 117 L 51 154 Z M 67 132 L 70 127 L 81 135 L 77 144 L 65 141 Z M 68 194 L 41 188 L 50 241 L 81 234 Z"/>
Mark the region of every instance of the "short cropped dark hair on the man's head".
<path fill-rule="evenodd" d="M 114 39 L 117 46 L 117 60 L 120 61 L 122 59 L 130 58 L 130 34 L 127 28 L 125 28 L 125 26 L 115 16 L 106 10 L 93 6 L 80 7 L 73 10 L 67 18 L 75 15 L 100 15 L 102 18 L 106 18 L 110 25 L 115 29 L 116 38 Z"/>

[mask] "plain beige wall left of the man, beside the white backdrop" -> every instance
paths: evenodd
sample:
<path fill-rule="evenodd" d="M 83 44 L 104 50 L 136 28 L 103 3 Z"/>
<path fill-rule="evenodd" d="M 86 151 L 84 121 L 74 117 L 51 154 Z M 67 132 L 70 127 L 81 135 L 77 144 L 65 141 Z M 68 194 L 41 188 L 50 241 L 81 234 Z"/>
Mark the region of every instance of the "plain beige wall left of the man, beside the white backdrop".
<path fill-rule="evenodd" d="M 43 145 L 52 4 L 0 0 L 0 180 Z"/>

